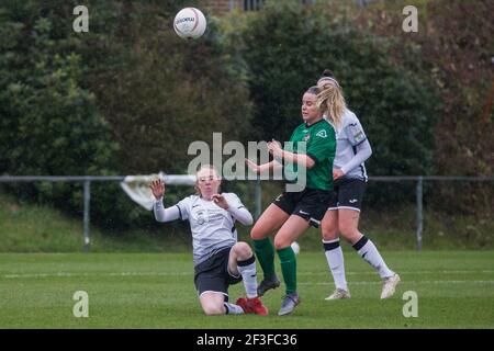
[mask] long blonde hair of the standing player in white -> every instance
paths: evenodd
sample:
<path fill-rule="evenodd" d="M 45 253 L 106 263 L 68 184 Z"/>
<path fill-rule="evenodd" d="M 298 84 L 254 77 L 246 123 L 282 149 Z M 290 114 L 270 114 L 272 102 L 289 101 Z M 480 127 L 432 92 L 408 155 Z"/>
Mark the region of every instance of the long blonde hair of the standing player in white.
<path fill-rule="evenodd" d="M 329 122 L 338 128 L 347 109 L 341 89 L 333 82 L 324 84 L 323 90 L 317 94 L 316 104 Z"/>

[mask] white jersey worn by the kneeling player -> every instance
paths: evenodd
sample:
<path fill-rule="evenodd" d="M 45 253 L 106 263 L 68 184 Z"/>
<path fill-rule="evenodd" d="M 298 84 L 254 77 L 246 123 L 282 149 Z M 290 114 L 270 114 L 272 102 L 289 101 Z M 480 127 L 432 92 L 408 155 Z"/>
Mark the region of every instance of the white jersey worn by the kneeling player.
<path fill-rule="evenodd" d="M 231 207 L 245 208 L 236 194 L 222 193 L 222 195 Z M 180 218 L 190 223 L 194 265 L 203 262 L 220 249 L 233 247 L 237 242 L 235 218 L 213 201 L 191 195 L 176 206 L 180 211 Z"/>

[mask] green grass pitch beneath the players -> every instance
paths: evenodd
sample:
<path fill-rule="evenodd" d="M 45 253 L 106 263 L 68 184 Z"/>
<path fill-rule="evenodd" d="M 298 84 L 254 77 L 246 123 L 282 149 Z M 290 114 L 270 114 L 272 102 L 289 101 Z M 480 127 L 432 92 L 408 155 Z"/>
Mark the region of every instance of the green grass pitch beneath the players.
<path fill-rule="evenodd" d="M 0 328 L 494 328 L 493 251 L 384 251 L 402 276 L 388 301 L 373 270 L 345 256 L 351 299 L 325 301 L 334 285 L 324 254 L 302 251 L 294 314 L 276 316 L 280 287 L 263 297 L 267 317 L 206 317 L 191 253 L 1 253 Z M 76 291 L 89 295 L 88 318 L 72 315 Z M 402 314 L 405 291 L 418 295 L 416 318 Z M 242 283 L 229 293 L 243 295 Z"/>

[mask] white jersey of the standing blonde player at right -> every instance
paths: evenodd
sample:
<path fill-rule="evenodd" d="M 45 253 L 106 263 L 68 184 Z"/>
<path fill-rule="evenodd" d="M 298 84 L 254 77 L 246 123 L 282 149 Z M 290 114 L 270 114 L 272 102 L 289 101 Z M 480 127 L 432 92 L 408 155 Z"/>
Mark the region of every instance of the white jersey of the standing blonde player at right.
<path fill-rule="evenodd" d="M 336 132 L 336 155 L 333 168 L 343 169 L 357 154 L 356 147 L 367 140 L 367 136 L 359 118 L 357 118 L 355 113 L 348 109 L 344 112 L 339 127 L 337 128 L 334 125 L 333 127 Z M 368 178 L 364 163 L 362 162 L 358 167 L 347 170 L 345 172 L 345 178 L 367 181 Z"/>

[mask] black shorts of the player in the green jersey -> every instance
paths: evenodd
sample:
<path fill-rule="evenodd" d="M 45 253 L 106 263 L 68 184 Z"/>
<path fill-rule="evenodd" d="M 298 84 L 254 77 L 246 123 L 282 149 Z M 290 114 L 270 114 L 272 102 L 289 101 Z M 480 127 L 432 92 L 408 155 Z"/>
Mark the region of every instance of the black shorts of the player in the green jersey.
<path fill-rule="evenodd" d="M 283 192 L 273 204 L 289 215 L 297 215 L 308 220 L 308 224 L 318 227 L 332 203 L 334 192 L 306 188 L 301 192 Z"/>

